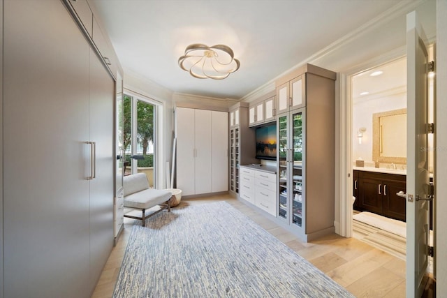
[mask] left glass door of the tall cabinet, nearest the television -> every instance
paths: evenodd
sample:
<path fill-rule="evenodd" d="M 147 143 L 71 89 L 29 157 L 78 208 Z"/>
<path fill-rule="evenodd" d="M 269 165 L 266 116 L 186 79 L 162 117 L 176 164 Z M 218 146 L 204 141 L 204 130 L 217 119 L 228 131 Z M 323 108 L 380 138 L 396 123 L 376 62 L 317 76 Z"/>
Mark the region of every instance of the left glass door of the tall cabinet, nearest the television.
<path fill-rule="evenodd" d="M 279 217 L 288 218 L 288 116 L 278 118 Z"/>

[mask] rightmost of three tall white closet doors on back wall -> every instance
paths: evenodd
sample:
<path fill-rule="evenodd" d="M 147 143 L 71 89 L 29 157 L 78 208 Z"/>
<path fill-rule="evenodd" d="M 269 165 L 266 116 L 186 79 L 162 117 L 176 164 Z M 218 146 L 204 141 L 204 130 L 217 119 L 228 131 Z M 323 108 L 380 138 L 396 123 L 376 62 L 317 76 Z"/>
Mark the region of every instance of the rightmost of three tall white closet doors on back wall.
<path fill-rule="evenodd" d="M 211 112 L 212 192 L 228 191 L 228 113 Z"/>

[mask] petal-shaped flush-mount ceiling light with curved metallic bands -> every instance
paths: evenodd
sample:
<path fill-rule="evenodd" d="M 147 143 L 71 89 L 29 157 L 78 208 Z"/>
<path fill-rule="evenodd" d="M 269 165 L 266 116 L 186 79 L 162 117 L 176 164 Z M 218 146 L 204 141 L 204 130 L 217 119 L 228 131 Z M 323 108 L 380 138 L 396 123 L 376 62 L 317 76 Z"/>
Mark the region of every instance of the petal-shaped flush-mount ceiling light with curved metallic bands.
<path fill-rule="evenodd" d="M 240 61 L 226 45 L 188 45 L 178 63 L 180 68 L 198 79 L 223 80 L 240 68 Z"/>

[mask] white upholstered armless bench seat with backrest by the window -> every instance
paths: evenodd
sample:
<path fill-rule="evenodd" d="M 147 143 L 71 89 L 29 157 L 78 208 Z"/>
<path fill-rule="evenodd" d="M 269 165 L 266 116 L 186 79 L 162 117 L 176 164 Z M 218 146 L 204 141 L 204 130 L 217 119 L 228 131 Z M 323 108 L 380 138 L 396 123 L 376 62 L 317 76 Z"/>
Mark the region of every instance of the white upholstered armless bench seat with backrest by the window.
<path fill-rule="evenodd" d="M 141 210 L 141 216 L 135 215 L 135 212 L 138 211 L 131 211 L 124 214 L 124 217 L 140 219 L 143 227 L 145 226 L 146 218 L 153 216 L 164 209 L 168 209 L 168 212 L 170 211 L 170 198 L 172 193 L 170 191 L 160 191 L 158 189 L 149 188 L 145 173 L 124 176 L 123 188 L 124 207 Z M 158 210 L 145 214 L 147 209 L 156 206 L 159 206 Z"/>

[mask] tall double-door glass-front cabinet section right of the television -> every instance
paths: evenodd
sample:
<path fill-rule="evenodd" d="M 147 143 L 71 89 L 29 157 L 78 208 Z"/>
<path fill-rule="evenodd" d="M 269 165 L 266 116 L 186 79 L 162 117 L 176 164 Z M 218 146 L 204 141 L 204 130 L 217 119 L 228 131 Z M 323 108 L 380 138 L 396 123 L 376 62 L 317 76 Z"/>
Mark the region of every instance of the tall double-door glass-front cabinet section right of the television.
<path fill-rule="evenodd" d="M 304 109 L 279 115 L 278 129 L 278 216 L 302 228 L 305 210 L 303 171 Z"/>

